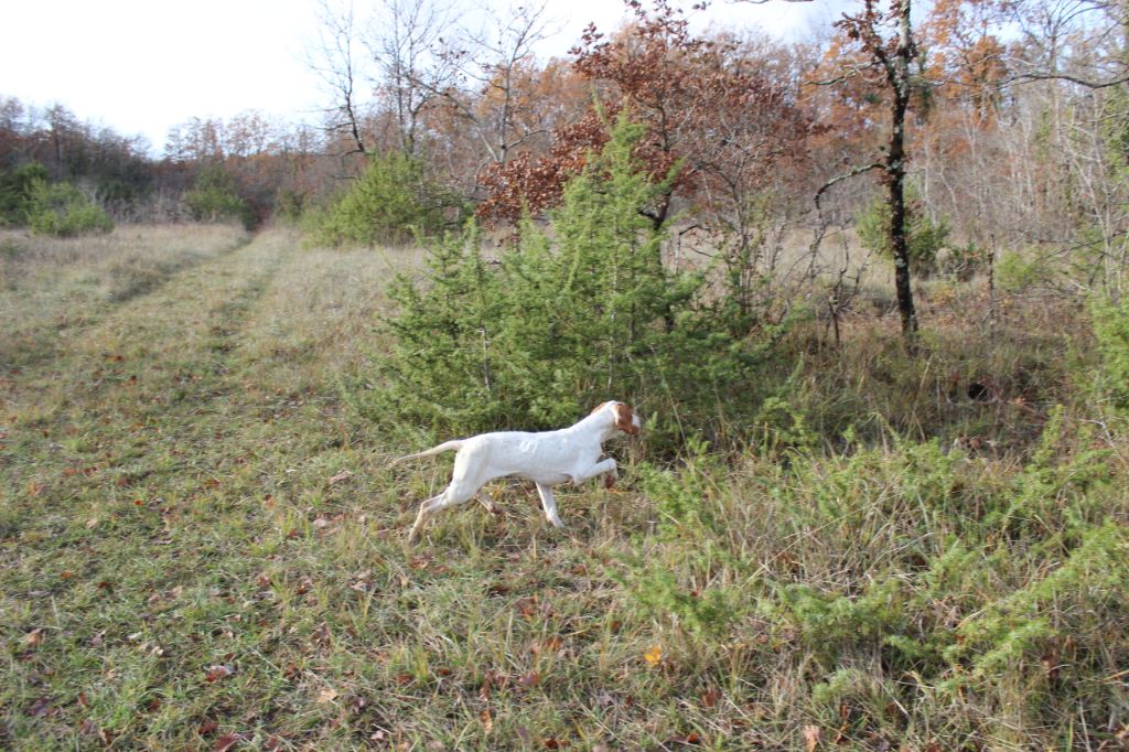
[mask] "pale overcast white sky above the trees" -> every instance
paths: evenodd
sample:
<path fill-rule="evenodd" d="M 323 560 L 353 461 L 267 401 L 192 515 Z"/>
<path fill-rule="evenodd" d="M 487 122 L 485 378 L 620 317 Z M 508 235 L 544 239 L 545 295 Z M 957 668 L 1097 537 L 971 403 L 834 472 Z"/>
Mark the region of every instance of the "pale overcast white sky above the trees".
<path fill-rule="evenodd" d="M 715 0 L 702 20 L 787 36 L 829 24 L 847 5 Z M 35 107 L 62 104 L 82 121 L 146 137 L 155 154 L 172 126 L 193 116 L 257 110 L 316 122 L 327 95 L 304 62 L 316 38 L 315 7 L 313 0 L 9 0 L 0 10 L 0 95 Z M 562 30 L 545 44 L 545 56 L 563 55 L 589 20 L 612 30 L 624 18 L 620 0 L 550 0 L 549 12 Z"/>

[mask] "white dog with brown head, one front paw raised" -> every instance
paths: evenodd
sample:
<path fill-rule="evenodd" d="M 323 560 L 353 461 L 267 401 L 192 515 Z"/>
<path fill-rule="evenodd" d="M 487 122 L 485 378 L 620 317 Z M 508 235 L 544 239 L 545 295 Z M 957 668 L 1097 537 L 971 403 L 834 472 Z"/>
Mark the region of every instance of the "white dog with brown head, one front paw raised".
<path fill-rule="evenodd" d="M 555 431 L 528 434 L 524 431 L 498 431 L 481 434 L 465 439 L 445 441 L 437 447 L 406 457 L 394 460 L 393 464 L 405 460 L 430 457 L 441 452 L 457 449 L 455 470 L 450 484 L 438 496 L 420 505 L 419 515 L 409 541 L 414 541 L 428 517 L 440 509 L 454 507 L 475 498 L 479 490 L 496 478 L 515 475 L 533 481 L 545 510 L 545 517 L 557 527 L 563 527 L 557 514 L 553 486 L 571 482 L 575 486 L 589 478 L 606 474 L 611 488 L 619 476 L 614 460 L 603 460 L 603 443 L 613 436 L 638 434 L 639 417 L 622 402 L 604 402 L 587 418 L 568 428 Z M 488 509 L 493 505 L 480 498 Z"/>

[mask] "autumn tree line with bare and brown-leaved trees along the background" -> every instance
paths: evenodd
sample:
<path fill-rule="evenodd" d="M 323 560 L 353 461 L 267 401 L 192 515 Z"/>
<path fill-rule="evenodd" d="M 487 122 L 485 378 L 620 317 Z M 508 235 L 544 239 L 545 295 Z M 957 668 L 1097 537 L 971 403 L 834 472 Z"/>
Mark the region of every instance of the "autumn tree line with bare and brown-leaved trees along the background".
<path fill-rule="evenodd" d="M 838 278 L 833 316 L 860 260 L 816 269 L 825 254 L 797 264 L 786 247 L 856 221 L 872 226 L 872 261 L 893 262 L 909 335 L 911 274 L 943 247 L 951 265 L 1006 261 L 1049 286 L 1120 289 L 1123 3 L 859 0 L 824 36 L 787 43 L 692 32 L 694 9 L 671 0 L 625 6 L 623 27 L 588 26 L 564 59 L 542 61 L 544 5 L 471 28 L 432 0 L 365 14 L 326 0 L 309 55 L 329 91 L 320 128 L 253 112 L 192 119 L 160 158 L 62 106 L 3 98 L 5 206 L 36 164 L 120 219 L 306 217 L 321 241 L 404 242 L 470 215 L 543 215 L 622 112 L 645 128 L 647 170 L 676 172 L 639 211 L 656 227 L 676 219 L 680 248 L 724 269 L 746 313 L 779 303 L 760 299 L 760 280 L 820 272 Z M 933 235 L 914 238 L 922 222 Z"/>

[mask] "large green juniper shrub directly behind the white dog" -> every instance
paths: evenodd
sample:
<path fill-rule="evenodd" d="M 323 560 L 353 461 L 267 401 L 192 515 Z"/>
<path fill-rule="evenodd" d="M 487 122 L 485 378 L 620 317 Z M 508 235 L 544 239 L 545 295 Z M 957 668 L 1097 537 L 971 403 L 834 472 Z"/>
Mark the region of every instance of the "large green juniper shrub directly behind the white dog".
<path fill-rule="evenodd" d="M 427 279 L 397 278 L 392 352 L 367 395 L 375 420 L 439 436 L 557 428 L 621 399 L 667 417 L 648 445 L 675 451 L 677 420 L 751 411 L 767 348 L 738 339 L 699 304 L 700 274 L 665 268 L 665 237 L 642 216 L 674 175 L 651 180 L 632 157 L 642 129 L 620 117 L 609 145 L 566 186 L 542 229 L 525 220 L 497 262 L 478 228 L 435 244 Z M 728 418 L 733 418 L 729 416 Z"/>

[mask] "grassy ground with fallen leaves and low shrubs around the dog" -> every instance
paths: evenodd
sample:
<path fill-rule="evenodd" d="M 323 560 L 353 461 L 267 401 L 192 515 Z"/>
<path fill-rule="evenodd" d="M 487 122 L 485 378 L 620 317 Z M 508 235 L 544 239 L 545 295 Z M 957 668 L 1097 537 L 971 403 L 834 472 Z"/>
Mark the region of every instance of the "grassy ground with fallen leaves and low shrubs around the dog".
<path fill-rule="evenodd" d="M 499 482 L 413 549 L 449 457 L 386 469 L 420 447 L 342 385 L 417 261 L 0 237 L 0 746 L 1129 743 L 1129 441 L 1082 313 L 937 288 L 916 361 L 813 324 L 756 441 L 622 443 L 567 530 Z"/>

